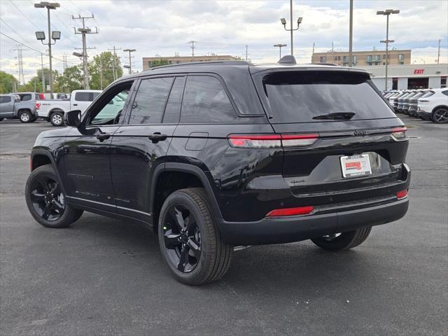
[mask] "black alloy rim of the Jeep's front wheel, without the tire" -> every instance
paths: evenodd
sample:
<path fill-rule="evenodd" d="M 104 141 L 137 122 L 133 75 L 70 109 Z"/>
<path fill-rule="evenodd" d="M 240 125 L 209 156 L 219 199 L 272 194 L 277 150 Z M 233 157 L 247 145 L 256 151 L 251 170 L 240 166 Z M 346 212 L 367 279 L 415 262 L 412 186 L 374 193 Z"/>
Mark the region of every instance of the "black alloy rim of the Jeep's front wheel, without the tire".
<path fill-rule="evenodd" d="M 48 176 L 34 179 L 30 198 L 36 213 L 45 221 L 56 221 L 64 214 L 65 200 L 59 183 Z"/>

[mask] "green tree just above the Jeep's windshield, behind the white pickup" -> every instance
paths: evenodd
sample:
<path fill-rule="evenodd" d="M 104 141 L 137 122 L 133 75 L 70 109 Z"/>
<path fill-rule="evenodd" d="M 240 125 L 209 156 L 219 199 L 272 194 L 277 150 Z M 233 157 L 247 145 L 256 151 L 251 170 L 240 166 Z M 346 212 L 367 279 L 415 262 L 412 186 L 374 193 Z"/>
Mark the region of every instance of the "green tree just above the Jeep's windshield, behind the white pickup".
<path fill-rule="evenodd" d="M 112 83 L 114 67 L 117 71 L 117 78 L 123 76 L 120 59 L 117 56 L 114 57 L 112 52 L 104 51 L 94 56 L 92 62 L 89 63 L 90 88 L 92 90 L 102 90 Z"/>

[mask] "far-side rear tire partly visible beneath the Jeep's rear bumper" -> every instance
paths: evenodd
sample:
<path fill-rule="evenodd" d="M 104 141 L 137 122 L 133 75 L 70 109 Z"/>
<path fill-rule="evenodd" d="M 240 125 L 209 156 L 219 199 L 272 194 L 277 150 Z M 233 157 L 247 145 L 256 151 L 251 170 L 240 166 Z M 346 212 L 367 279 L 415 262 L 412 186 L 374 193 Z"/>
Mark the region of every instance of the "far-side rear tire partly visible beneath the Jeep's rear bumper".
<path fill-rule="evenodd" d="M 371 230 L 372 227 L 367 226 L 359 230 L 342 232 L 336 237 L 324 236 L 311 239 L 311 241 L 327 251 L 344 251 L 362 244 Z"/>

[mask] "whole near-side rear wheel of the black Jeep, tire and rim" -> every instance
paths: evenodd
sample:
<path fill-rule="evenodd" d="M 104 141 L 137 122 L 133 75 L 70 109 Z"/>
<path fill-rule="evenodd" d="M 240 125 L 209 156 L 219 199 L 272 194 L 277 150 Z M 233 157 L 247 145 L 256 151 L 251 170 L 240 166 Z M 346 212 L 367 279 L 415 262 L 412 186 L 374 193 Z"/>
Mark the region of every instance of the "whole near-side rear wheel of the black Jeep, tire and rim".
<path fill-rule="evenodd" d="M 230 267 L 232 246 L 221 239 L 202 188 L 177 190 L 167 197 L 158 233 L 162 257 L 182 283 L 216 281 Z"/>

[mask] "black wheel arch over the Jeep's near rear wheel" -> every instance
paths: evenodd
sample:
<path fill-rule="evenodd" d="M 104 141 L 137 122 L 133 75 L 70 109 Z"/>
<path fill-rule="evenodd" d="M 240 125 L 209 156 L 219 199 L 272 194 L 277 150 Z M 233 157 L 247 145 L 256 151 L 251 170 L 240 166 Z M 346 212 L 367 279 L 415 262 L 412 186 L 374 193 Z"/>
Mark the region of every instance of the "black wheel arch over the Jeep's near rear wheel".
<path fill-rule="evenodd" d="M 178 177 L 181 177 L 181 183 L 176 183 L 176 181 L 174 181 L 174 186 L 167 190 L 166 195 L 162 195 L 162 197 L 160 197 L 160 193 L 162 193 L 162 190 L 160 190 L 160 188 L 165 186 L 163 183 L 167 178 L 169 178 L 169 181 L 173 181 L 172 177 L 176 176 L 176 174 Z M 167 162 L 165 163 L 165 165 L 159 165 L 158 167 L 156 167 L 152 176 L 150 191 L 150 212 L 153 215 L 154 227 L 156 227 L 158 224 L 158 212 L 160 211 L 160 208 L 162 207 L 162 204 L 165 201 L 166 197 L 176 190 L 192 187 L 204 188 L 211 204 L 211 211 L 213 211 L 213 216 L 215 218 L 222 218 L 221 210 L 218 207 L 218 202 L 216 201 L 213 188 L 211 188 L 209 179 L 207 179 L 207 175 L 204 173 L 204 171 L 202 171 L 200 167 L 188 165 L 186 163 Z"/>

